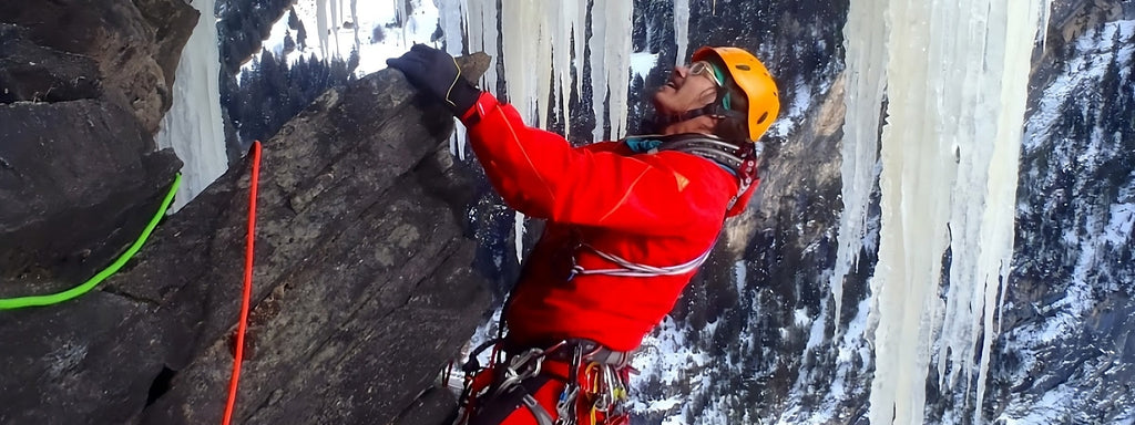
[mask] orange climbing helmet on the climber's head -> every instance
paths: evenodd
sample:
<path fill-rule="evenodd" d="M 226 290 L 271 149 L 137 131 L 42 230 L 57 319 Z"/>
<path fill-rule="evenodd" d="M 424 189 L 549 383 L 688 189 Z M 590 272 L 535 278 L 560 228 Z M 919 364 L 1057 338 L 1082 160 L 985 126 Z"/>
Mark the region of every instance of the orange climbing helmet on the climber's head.
<path fill-rule="evenodd" d="M 692 62 L 720 59 L 733 83 L 745 92 L 749 103 L 747 125 L 749 141 L 756 142 L 768 130 L 780 113 L 779 91 L 768 68 L 753 53 L 739 48 L 704 46 L 693 52 Z"/>

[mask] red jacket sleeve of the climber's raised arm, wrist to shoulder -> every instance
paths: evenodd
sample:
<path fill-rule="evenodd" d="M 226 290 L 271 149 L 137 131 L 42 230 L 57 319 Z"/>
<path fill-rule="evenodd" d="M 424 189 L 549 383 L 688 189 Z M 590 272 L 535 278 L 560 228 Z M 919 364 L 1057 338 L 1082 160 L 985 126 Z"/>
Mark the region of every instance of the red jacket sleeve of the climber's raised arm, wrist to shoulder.
<path fill-rule="evenodd" d="M 684 153 L 627 156 L 572 147 L 557 134 L 526 126 L 512 105 L 489 93 L 463 121 L 493 187 L 530 216 L 676 235 L 720 224 L 737 190 L 724 170 Z"/>

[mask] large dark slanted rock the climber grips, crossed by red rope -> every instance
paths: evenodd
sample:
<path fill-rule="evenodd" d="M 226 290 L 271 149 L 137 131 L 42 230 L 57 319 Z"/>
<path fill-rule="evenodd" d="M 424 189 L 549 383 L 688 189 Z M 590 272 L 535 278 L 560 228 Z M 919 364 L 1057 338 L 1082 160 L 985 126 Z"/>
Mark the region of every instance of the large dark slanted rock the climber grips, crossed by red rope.
<path fill-rule="evenodd" d="M 484 56 L 466 75 L 480 75 Z M 488 306 L 461 226 L 453 120 L 401 74 L 330 91 L 263 146 L 243 424 L 423 423 Z M 170 216 L 102 290 L 0 313 L 0 423 L 200 424 L 224 411 L 247 163 Z M 42 396 L 41 394 L 45 394 Z M 401 417 L 401 419 L 400 419 Z"/>

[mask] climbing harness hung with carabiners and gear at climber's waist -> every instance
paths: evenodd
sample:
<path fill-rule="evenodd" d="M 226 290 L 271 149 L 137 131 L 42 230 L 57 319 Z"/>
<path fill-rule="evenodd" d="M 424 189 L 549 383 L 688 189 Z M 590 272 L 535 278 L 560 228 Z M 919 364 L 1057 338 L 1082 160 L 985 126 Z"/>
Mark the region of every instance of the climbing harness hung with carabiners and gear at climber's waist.
<path fill-rule="evenodd" d="M 613 351 L 590 340 L 570 339 L 548 348 L 521 349 L 499 367 L 493 358 L 488 367 L 477 364 L 480 351 L 489 345 L 504 343 L 491 340 L 470 352 L 470 362 L 463 367 L 462 424 L 497 424 L 522 407 L 539 425 L 580 424 L 580 409 L 590 419 L 588 425 L 629 423 L 625 402 L 633 371 L 630 352 Z M 491 382 L 479 382 L 484 376 Z M 550 380 L 564 383 L 555 400 L 555 419 L 535 398 Z M 481 388 L 474 388 L 478 385 Z"/>

